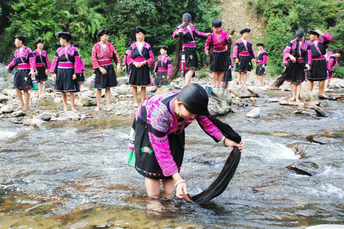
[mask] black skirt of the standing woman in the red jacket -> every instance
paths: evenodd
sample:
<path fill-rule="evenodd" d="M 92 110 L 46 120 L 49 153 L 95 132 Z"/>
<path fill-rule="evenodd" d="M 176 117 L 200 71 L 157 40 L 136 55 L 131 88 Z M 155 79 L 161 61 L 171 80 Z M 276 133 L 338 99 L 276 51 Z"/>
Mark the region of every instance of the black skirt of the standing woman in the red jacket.
<path fill-rule="evenodd" d="M 94 71 L 96 75 L 94 88 L 95 89 L 106 89 L 106 88 L 113 88 L 117 86 L 117 78 L 114 66 L 112 64 L 102 66 L 106 70 L 106 74 L 103 73 L 97 68 Z"/>

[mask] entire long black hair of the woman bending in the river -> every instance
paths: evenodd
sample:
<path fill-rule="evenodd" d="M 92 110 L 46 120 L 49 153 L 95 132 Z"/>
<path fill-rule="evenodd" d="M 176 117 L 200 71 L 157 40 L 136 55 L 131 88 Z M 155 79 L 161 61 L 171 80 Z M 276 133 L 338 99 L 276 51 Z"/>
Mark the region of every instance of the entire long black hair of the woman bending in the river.
<path fill-rule="evenodd" d="M 198 84 L 188 84 L 183 87 L 177 95 L 177 101 L 180 101 L 185 109 L 191 114 L 198 114 L 208 118 L 221 132 L 222 134 L 236 143 L 240 143 L 241 137 L 236 133 L 232 127 L 227 123 L 222 122 L 216 117 L 212 116 L 208 111 L 209 97 L 205 90 Z M 201 126 L 206 134 L 211 136 L 205 129 Z M 211 136 L 216 142 L 219 140 Z M 219 195 L 226 189 L 229 181 L 232 179 L 235 170 L 239 164 L 241 157 L 240 150 L 235 147 L 229 154 L 223 169 L 214 180 L 211 185 L 205 189 L 203 192 L 193 196 L 191 200 L 196 204 L 203 204 Z"/>

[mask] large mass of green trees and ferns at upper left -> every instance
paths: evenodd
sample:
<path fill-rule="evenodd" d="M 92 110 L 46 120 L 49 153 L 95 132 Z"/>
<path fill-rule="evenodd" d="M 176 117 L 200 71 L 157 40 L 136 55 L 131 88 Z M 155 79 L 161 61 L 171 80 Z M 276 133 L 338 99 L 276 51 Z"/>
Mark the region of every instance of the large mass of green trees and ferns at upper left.
<path fill-rule="evenodd" d="M 181 23 L 184 12 L 192 15 L 192 23 L 197 30 L 211 31 L 211 21 L 219 18 L 221 12 L 214 9 L 218 0 L 11 0 L 5 3 L 10 7 L 10 25 L 0 31 L 0 61 L 8 62 L 13 50 L 13 37 L 23 34 L 27 46 L 36 49 L 34 41 L 43 38 L 44 49 L 52 60 L 59 41 L 56 32 L 68 31 L 72 43 L 80 43 L 80 54 L 85 65 L 91 65 L 93 45 L 99 41 L 96 33 L 108 27 L 112 31 L 109 42 L 123 57 L 128 41 L 135 41 L 135 27 L 147 29 L 145 40 L 152 46 L 155 56 L 161 45 L 168 45 L 171 58 L 176 40 L 172 32 Z M 205 41 L 196 42 L 200 66 L 206 63 Z M 160 55 L 160 54 L 159 54 Z"/>

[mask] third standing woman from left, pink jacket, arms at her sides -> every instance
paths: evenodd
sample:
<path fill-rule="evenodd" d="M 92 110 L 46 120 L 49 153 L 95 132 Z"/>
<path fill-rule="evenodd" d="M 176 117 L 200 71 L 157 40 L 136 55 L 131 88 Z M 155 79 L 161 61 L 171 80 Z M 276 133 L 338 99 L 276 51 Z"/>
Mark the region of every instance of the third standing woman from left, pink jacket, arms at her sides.
<path fill-rule="evenodd" d="M 56 80 L 54 90 L 61 92 L 64 111 L 68 110 L 67 92 L 69 92 L 71 110 L 76 111 L 74 93 L 80 91 L 76 78 L 77 74 L 82 73 L 79 54 L 76 48 L 69 43 L 72 39 L 70 33 L 58 32 L 57 37 L 60 39 L 61 47 L 55 53 L 49 72 L 53 74 L 53 79 Z"/>

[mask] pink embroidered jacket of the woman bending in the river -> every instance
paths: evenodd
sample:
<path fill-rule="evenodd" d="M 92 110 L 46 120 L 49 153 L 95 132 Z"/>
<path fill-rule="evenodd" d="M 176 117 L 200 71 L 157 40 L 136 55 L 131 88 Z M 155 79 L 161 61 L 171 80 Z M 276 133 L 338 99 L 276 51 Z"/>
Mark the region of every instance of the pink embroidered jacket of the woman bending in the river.
<path fill-rule="evenodd" d="M 153 127 L 153 131 L 148 132 L 150 142 L 164 176 L 171 176 L 178 172 L 178 168 L 171 155 L 168 135 L 179 131 L 178 121 L 173 112 L 173 101 L 179 92 L 180 90 L 153 96 L 145 100 L 136 112 L 136 119 L 138 119 L 141 116 L 142 109 L 146 109 L 147 123 Z M 169 103 L 168 108 L 163 104 L 163 100 L 173 95 L 175 97 Z M 214 140 L 221 140 L 223 137 L 222 132 L 206 116 L 196 115 L 195 119 L 202 126 L 202 129 L 210 134 Z M 180 131 L 191 124 L 193 120 L 192 118 L 186 118 L 180 127 Z"/>

